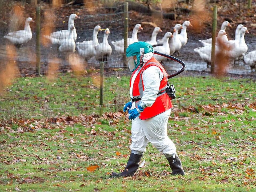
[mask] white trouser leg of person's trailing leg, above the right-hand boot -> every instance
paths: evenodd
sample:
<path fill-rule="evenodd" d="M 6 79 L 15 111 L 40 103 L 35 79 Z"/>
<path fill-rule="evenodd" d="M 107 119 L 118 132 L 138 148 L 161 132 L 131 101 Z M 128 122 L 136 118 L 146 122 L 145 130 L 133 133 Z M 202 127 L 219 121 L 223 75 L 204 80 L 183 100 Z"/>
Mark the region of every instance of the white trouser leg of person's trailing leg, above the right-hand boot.
<path fill-rule="evenodd" d="M 171 109 L 150 119 L 135 119 L 140 122 L 147 140 L 164 155 L 173 155 L 176 153 L 176 147 L 173 141 L 167 136 L 167 123 L 170 113 Z"/>

